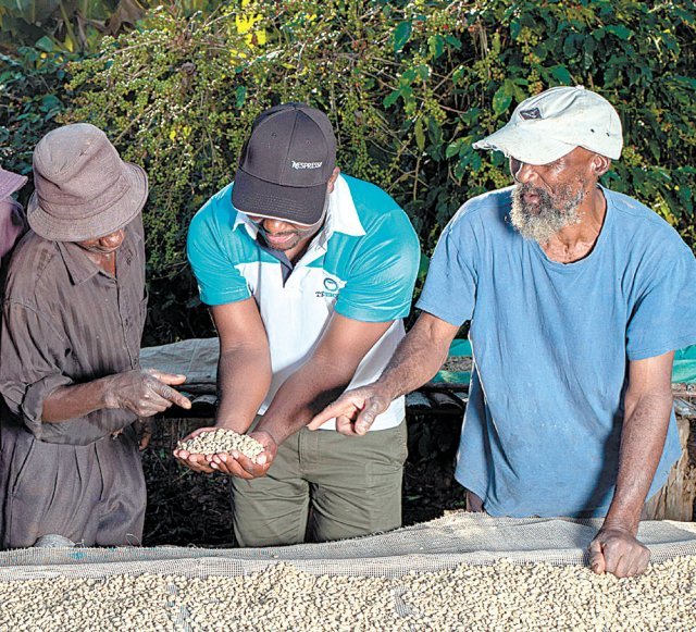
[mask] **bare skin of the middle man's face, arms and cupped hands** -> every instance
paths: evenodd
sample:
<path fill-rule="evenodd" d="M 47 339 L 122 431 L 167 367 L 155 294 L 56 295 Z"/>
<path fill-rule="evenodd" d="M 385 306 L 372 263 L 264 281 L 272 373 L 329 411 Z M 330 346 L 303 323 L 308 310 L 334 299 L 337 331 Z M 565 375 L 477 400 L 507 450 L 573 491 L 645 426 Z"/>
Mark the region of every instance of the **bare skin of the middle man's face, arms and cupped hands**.
<path fill-rule="evenodd" d="M 327 185 L 328 193 L 333 190 L 338 173 L 336 169 Z M 308 227 L 279 220 L 250 218 L 260 224 L 269 245 L 283 250 L 294 263 L 304 255 L 323 223 Z M 214 307 L 211 312 L 221 344 L 221 404 L 215 425 L 199 429 L 187 438 L 214 427 L 246 432 L 271 384 L 271 352 L 256 301 L 249 298 Z M 277 446 L 307 425 L 346 388 L 362 358 L 390 325 L 391 321 L 366 323 L 333 314 L 311 357 L 285 381 L 259 425 L 249 433 L 264 447 L 254 460 L 239 453 L 203 456 L 175 450 L 175 457 L 196 472 L 216 470 L 247 480 L 265 475 Z M 249 375 L 254 379 L 249 380 Z"/>

